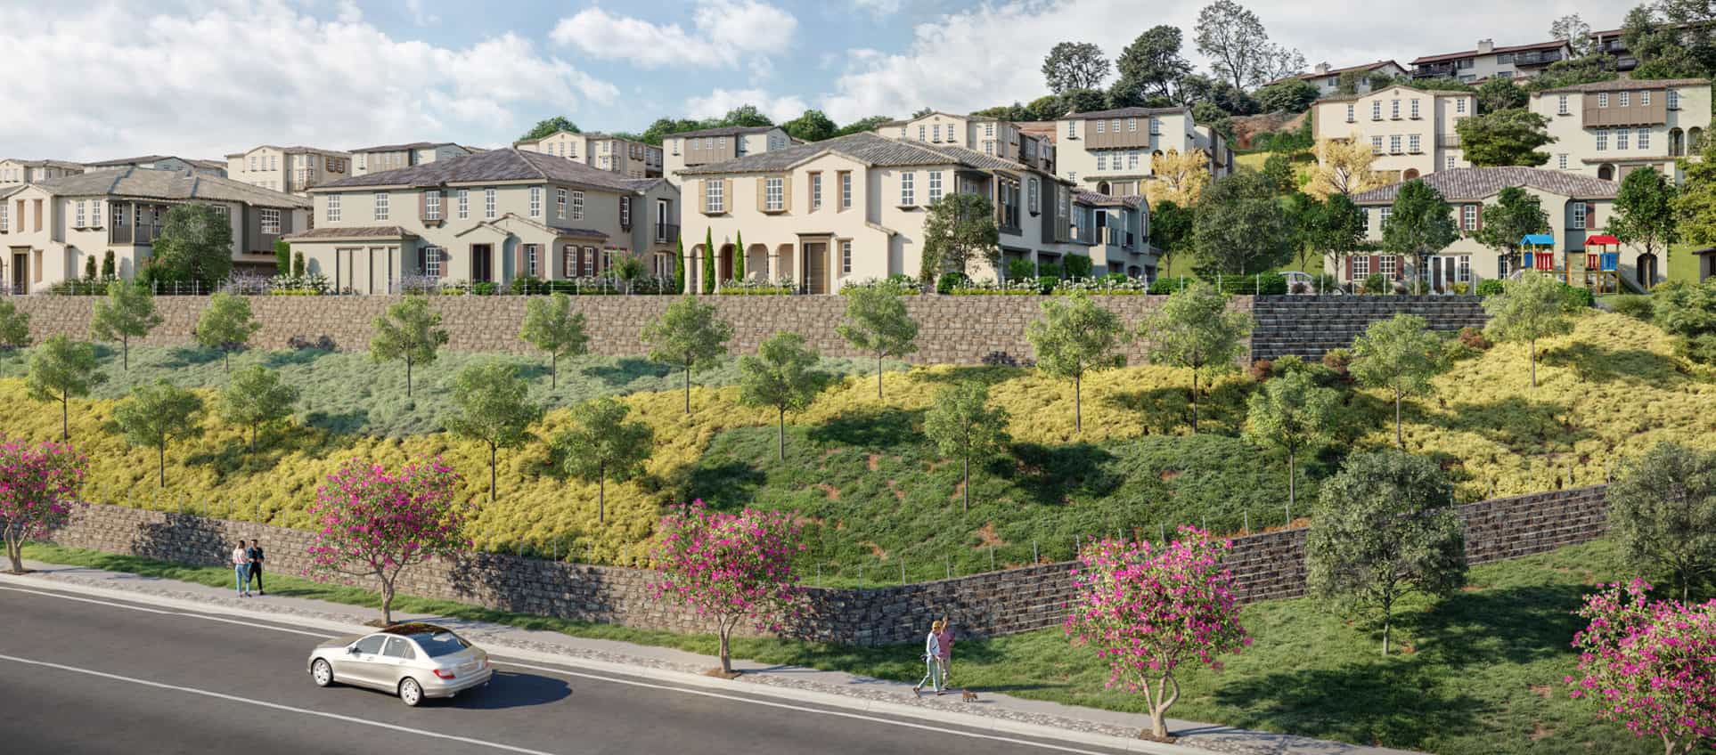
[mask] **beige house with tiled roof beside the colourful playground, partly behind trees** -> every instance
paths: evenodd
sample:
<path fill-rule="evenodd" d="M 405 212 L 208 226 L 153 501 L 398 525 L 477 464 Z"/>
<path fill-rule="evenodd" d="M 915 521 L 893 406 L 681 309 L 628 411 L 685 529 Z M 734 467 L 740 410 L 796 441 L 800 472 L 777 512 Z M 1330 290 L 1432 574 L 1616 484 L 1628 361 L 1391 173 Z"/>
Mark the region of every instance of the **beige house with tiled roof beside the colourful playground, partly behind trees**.
<path fill-rule="evenodd" d="M 1424 271 L 1426 280 L 1441 292 L 1450 290 L 1455 281 L 1476 288 L 1479 280 L 1507 278 L 1520 269 L 1520 259 L 1508 259 L 1472 237 L 1472 232 L 1483 228 L 1483 206 L 1495 204 L 1502 189 L 1522 187 L 1538 197 L 1550 216 L 1548 233 L 1555 239 L 1551 247 L 1556 256 L 1555 268 L 1565 271 L 1572 264 L 1575 281 L 1584 278 L 1586 240 L 1604 233 L 1613 216 L 1615 192 L 1620 190 L 1611 180 L 1544 168 L 1453 168 L 1424 175 L 1421 180 L 1441 192 L 1460 228 L 1460 239 L 1429 257 Z M 1393 184 L 1352 197 L 1364 211 L 1368 240 L 1381 242 L 1383 221 L 1399 190 L 1400 184 Z M 1663 264 L 1654 256 L 1642 254 L 1642 249 L 1628 245 L 1608 251 L 1620 252 L 1620 275 L 1630 288 L 1642 290 L 1663 280 Z M 1412 259 L 1390 254 L 1354 254 L 1328 273 L 1342 281 L 1363 281 L 1373 273 L 1411 280 L 1414 264 Z"/>

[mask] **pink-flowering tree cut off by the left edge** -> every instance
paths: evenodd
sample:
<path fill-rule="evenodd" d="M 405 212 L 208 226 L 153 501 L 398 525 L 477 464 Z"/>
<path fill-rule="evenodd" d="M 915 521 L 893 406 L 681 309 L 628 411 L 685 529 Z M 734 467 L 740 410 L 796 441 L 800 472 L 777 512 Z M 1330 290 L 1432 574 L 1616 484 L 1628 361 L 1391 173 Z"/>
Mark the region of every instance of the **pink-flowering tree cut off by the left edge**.
<path fill-rule="evenodd" d="M 84 487 L 84 455 L 58 443 L 0 438 L 0 530 L 12 573 L 24 573 L 24 541 L 65 523 Z"/>

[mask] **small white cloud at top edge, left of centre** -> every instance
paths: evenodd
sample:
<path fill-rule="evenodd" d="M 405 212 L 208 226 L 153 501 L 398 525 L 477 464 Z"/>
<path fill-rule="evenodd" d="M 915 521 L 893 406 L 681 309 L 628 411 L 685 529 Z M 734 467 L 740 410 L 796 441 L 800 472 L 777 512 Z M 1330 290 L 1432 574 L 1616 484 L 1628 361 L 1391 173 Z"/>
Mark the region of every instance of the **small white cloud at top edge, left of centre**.
<path fill-rule="evenodd" d="M 590 7 L 561 19 L 549 38 L 594 58 L 645 69 L 736 67 L 786 51 L 796 31 L 793 14 L 760 0 L 698 0 L 690 31 Z"/>

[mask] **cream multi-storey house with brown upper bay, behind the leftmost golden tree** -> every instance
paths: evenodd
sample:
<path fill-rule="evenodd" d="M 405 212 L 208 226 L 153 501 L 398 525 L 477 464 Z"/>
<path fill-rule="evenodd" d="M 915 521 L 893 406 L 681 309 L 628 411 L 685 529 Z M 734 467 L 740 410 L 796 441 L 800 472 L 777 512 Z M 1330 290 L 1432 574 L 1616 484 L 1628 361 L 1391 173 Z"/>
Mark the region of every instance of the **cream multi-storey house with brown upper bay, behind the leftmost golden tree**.
<path fill-rule="evenodd" d="M 1067 113 L 1055 120 L 1057 173 L 1085 190 L 1145 194 L 1157 153 L 1203 153 L 1217 178 L 1232 172 L 1234 149 L 1222 134 L 1198 125 L 1191 108 L 1117 108 Z"/>

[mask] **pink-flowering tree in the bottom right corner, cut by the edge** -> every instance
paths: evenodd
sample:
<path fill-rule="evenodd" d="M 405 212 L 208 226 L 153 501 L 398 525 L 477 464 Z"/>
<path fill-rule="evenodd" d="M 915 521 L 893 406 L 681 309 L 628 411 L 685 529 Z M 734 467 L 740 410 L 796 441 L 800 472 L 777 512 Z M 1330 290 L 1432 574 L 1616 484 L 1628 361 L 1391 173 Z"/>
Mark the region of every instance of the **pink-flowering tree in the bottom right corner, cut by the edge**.
<path fill-rule="evenodd" d="M 1668 755 L 1716 748 L 1716 601 L 1687 606 L 1649 602 L 1651 585 L 1632 580 L 1586 595 L 1574 635 L 1579 676 L 1574 698 L 1594 700 L 1598 716 L 1634 736 L 1658 736 Z"/>

